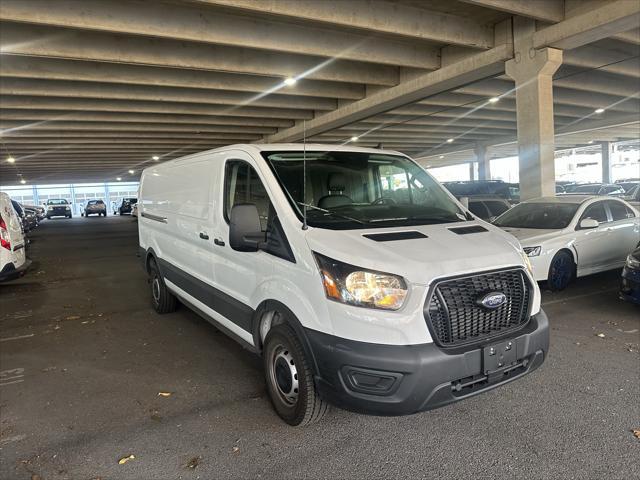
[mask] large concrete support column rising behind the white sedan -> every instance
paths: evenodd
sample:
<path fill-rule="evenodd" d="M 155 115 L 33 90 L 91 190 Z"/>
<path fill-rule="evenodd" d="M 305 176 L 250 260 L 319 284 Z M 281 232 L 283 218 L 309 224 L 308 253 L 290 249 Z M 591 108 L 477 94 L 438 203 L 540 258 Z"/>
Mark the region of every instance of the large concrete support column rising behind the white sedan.
<path fill-rule="evenodd" d="M 516 84 L 520 198 L 554 196 L 552 80 L 562 64 L 562 51 L 533 48 L 533 20 L 515 17 L 513 26 L 514 58 L 505 66 Z"/>

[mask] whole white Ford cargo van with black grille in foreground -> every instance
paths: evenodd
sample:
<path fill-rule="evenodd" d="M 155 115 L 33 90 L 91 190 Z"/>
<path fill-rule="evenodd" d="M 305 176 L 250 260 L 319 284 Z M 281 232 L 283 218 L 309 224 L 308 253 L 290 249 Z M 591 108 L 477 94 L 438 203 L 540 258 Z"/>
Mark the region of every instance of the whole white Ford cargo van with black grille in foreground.
<path fill-rule="evenodd" d="M 138 209 L 155 309 L 262 355 L 291 425 L 440 407 L 547 355 L 518 242 L 400 153 L 234 145 L 147 168 Z"/>

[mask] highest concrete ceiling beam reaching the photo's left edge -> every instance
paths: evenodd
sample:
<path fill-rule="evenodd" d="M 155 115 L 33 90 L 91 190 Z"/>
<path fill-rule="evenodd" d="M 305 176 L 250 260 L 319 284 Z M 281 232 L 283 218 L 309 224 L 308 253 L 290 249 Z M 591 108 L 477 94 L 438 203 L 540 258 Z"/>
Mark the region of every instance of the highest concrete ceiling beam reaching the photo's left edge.
<path fill-rule="evenodd" d="M 49 0 L 3 0 L 0 19 L 430 70 L 440 67 L 438 49 L 426 44 L 189 5 L 149 8 L 145 2 L 57 0 L 51 8 Z"/>

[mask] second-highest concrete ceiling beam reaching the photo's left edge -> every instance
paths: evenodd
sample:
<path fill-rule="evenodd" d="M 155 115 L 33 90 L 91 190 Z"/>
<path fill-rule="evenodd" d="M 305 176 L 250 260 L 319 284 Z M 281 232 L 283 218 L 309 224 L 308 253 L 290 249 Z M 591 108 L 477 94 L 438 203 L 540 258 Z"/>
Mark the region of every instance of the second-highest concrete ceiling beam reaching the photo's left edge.
<path fill-rule="evenodd" d="M 282 79 L 304 76 L 313 80 L 386 86 L 399 82 L 397 67 L 339 58 L 14 22 L 2 22 L 0 28 L 2 52 L 6 55 L 235 72 Z"/>

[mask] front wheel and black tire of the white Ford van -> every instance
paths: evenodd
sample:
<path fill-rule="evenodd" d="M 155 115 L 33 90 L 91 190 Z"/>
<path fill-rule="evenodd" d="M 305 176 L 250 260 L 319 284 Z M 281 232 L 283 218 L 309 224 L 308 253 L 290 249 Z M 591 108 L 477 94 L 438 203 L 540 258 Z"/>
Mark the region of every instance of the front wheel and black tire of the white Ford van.
<path fill-rule="evenodd" d="M 305 426 L 324 417 L 329 404 L 318 396 L 309 359 L 289 325 L 269 330 L 262 358 L 267 392 L 280 418 L 292 426 Z"/>

